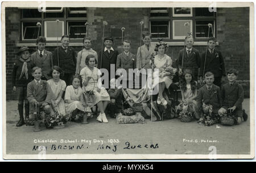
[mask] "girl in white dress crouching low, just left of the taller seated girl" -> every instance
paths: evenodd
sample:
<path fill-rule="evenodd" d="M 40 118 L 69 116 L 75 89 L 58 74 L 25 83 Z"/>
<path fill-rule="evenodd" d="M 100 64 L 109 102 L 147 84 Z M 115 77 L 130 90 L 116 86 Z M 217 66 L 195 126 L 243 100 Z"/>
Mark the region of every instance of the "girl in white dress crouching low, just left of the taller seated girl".
<path fill-rule="evenodd" d="M 87 118 L 92 111 L 82 94 L 81 77 L 79 75 L 73 75 L 72 85 L 67 86 L 64 100 L 66 112 L 72 114 L 72 120 L 87 124 Z"/>

